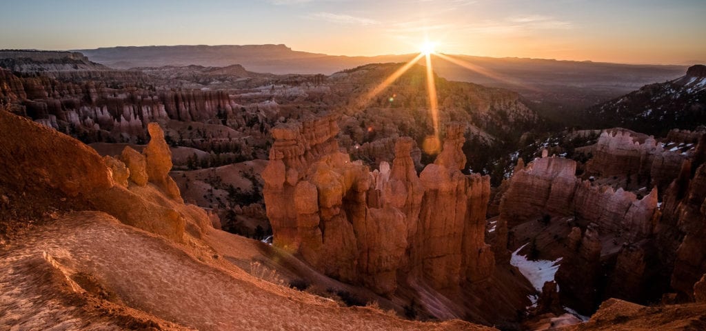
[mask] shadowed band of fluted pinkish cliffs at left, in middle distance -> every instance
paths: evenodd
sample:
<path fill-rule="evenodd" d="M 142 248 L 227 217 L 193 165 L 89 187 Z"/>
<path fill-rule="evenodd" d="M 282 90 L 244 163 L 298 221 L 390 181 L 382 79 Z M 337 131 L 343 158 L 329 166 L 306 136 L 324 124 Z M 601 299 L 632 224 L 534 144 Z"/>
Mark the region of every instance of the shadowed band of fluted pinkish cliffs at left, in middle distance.
<path fill-rule="evenodd" d="M 17 114 L 45 126 L 72 134 L 109 133 L 113 139 L 124 138 L 121 133 L 128 140 L 144 138 L 152 121 L 237 118 L 234 109 L 240 107 L 225 91 L 132 88 L 145 80 L 140 74 L 87 70 L 59 80 L 48 74 L 20 78 L 0 69 L 0 97 L 13 102 Z"/>

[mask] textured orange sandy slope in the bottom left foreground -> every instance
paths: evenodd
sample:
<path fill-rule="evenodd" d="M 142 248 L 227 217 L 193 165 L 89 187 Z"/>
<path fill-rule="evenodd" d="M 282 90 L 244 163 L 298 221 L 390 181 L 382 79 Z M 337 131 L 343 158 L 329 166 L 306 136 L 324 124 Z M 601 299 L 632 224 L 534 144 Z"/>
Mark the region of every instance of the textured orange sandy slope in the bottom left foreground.
<path fill-rule="evenodd" d="M 197 241 L 175 246 L 102 212 L 67 215 L 1 253 L 0 268 L 8 272 L 0 274 L 0 329 L 174 322 L 198 330 L 492 330 L 342 308 L 263 282 L 212 253 Z"/>

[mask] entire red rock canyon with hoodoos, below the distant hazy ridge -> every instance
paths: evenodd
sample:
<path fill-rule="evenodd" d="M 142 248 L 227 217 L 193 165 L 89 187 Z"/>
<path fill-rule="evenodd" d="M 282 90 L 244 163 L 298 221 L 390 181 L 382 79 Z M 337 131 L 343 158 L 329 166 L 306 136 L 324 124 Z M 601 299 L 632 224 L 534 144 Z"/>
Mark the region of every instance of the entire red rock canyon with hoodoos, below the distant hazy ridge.
<path fill-rule="evenodd" d="M 0 325 L 706 326 L 698 126 L 544 133 L 522 95 L 433 76 L 431 150 L 421 66 L 369 97 L 401 64 L 0 53 Z"/>

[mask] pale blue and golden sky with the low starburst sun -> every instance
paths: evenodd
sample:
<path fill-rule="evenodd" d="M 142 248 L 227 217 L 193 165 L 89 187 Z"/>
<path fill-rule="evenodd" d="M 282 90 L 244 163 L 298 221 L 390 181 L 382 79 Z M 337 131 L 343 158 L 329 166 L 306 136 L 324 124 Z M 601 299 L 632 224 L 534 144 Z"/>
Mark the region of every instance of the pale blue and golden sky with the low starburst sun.
<path fill-rule="evenodd" d="M 0 0 L 0 48 L 287 44 L 626 63 L 706 61 L 706 0 Z"/>

